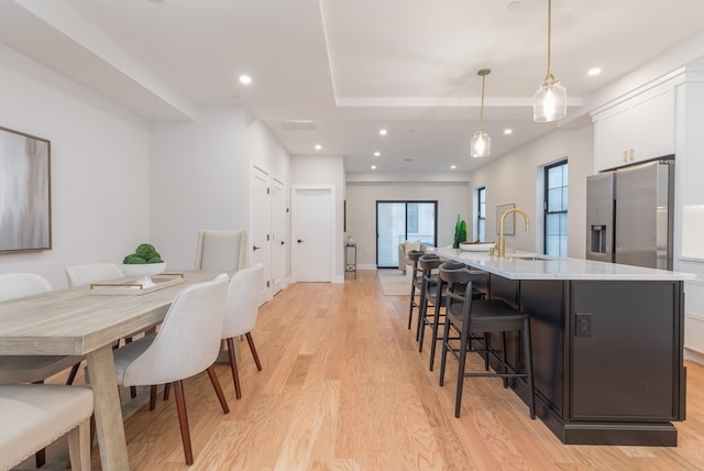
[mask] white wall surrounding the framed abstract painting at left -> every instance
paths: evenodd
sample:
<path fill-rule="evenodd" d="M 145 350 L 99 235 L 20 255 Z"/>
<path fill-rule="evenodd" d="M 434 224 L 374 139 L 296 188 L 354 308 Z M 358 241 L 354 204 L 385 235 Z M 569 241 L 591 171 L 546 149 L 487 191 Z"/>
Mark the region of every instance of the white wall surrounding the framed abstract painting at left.
<path fill-rule="evenodd" d="M 0 273 L 65 287 L 67 265 L 121 263 L 150 239 L 148 130 L 134 114 L 0 44 L 0 125 L 51 141 L 51 251 L 0 254 Z"/>

